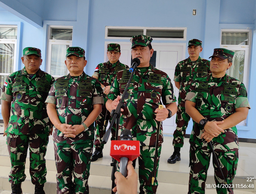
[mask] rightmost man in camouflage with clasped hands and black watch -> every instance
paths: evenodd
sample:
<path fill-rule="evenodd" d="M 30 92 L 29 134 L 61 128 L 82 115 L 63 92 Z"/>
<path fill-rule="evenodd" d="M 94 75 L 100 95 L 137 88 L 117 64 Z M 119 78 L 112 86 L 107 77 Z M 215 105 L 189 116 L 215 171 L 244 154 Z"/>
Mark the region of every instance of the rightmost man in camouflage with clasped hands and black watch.
<path fill-rule="evenodd" d="M 238 162 L 238 136 L 236 124 L 245 120 L 250 109 L 244 84 L 226 74 L 232 65 L 234 52 L 214 49 L 210 61 L 212 73 L 197 78 L 190 86 L 186 97 L 186 112 L 193 119 L 190 135 L 189 194 L 204 194 L 207 170 L 210 163 L 212 141 L 226 186 L 233 194 L 232 180 Z M 226 194 L 224 180 L 213 159 L 216 191 Z M 222 183 L 222 186 L 220 185 Z"/>

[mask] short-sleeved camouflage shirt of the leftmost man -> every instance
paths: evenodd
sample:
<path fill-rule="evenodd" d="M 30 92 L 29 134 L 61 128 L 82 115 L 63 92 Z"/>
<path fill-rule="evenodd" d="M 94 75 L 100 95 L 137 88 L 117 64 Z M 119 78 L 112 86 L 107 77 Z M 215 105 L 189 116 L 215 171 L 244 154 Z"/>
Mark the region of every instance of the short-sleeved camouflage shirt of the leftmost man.
<path fill-rule="evenodd" d="M 50 122 L 44 101 L 53 82 L 54 78 L 40 69 L 30 79 L 25 67 L 7 77 L 0 97 L 12 102 L 7 133 L 28 135 L 49 132 Z"/>

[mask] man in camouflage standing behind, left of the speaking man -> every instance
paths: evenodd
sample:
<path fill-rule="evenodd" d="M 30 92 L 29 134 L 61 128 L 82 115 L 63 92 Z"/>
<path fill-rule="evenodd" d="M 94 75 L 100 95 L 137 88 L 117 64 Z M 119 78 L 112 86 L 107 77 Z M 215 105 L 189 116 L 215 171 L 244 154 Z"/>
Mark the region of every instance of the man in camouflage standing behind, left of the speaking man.
<path fill-rule="evenodd" d="M 120 58 L 120 45 L 119 44 L 108 44 L 108 51 L 107 51 L 107 56 L 108 56 L 108 62 L 106 63 L 101 63 L 97 65 L 93 76 L 94 78 L 98 79 L 101 82 L 101 87 L 104 91 L 104 103 L 107 102 L 106 96 L 108 95 L 110 91 L 110 86 L 111 83 L 114 80 L 114 77 L 116 76 L 117 72 L 124 70 L 125 68 L 128 68 L 127 65 L 124 65 L 120 63 L 119 58 Z M 94 147 L 95 147 L 95 152 L 92 155 L 91 161 L 96 161 L 98 158 L 102 158 L 102 149 L 104 144 L 102 144 L 102 139 L 103 136 L 106 132 L 106 127 L 108 125 L 108 121 L 111 122 L 111 114 L 110 112 L 107 111 L 106 106 L 102 106 L 102 112 L 95 121 L 96 124 L 96 132 L 95 136 L 96 139 L 94 141 Z M 115 131 L 115 127 L 112 130 L 112 134 Z M 115 136 L 113 134 L 113 136 Z"/>

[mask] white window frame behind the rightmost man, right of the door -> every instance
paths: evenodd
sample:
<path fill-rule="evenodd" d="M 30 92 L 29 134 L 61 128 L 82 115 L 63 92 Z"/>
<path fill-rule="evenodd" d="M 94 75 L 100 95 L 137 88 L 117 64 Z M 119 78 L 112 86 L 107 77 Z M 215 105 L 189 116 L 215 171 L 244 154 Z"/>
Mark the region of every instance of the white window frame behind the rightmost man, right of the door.
<path fill-rule="evenodd" d="M 229 44 L 221 44 L 220 47 L 229 49 L 229 50 L 244 50 L 244 77 L 243 80 L 240 80 L 244 83 L 245 88 L 247 89 L 248 93 L 248 83 L 249 83 L 249 65 L 250 65 L 250 53 L 251 53 L 251 30 L 248 29 L 221 29 L 221 39 L 222 39 L 222 32 L 248 32 L 248 45 L 229 45 Z M 220 40 L 221 41 L 221 40 Z M 238 125 L 240 126 L 247 126 L 247 120 L 242 121 Z"/>

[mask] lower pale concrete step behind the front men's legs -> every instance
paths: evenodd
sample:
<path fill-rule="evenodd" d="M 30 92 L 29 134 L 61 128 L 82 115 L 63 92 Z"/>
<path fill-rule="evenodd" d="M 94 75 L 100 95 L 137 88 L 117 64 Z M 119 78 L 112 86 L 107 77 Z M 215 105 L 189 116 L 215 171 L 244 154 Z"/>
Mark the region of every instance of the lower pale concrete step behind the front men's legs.
<path fill-rule="evenodd" d="M 8 174 L 10 171 L 10 159 L 9 156 L 0 156 L 0 190 L 11 191 L 11 183 L 8 181 Z M 56 193 L 56 167 L 55 161 L 47 160 L 47 182 L 45 183 L 44 190 L 46 194 Z M 136 168 L 138 172 L 138 169 Z M 111 172 L 112 167 L 110 165 L 95 164 L 91 162 L 90 177 L 88 184 L 90 186 L 90 194 L 107 194 L 111 191 Z M 34 185 L 31 183 L 29 176 L 29 160 L 26 161 L 25 173 L 27 175 L 26 180 L 22 183 L 22 189 L 24 193 L 34 193 Z M 176 171 L 158 171 L 158 194 L 179 193 L 186 194 L 188 189 L 188 177 L 189 174 L 185 172 Z M 254 182 L 254 185 L 255 182 Z M 139 186 L 138 186 L 139 189 Z M 235 190 L 235 194 L 253 194 L 256 193 L 255 189 L 248 190 Z M 215 189 L 207 189 L 207 194 L 215 194 Z M 1 194 L 1 192 L 0 192 Z"/>

